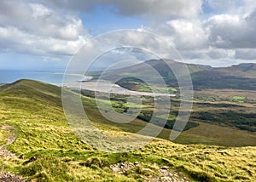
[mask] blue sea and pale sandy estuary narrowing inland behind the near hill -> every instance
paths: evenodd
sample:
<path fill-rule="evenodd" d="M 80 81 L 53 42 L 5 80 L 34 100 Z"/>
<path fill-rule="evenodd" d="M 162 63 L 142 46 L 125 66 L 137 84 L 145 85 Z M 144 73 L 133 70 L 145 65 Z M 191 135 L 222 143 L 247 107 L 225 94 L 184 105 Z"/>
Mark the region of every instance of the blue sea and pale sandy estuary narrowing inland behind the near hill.
<path fill-rule="evenodd" d="M 73 73 L 66 75 L 65 82 L 63 83 L 65 71 L 0 71 L 0 86 L 3 83 L 11 83 L 20 79 L 31 79 L 41 82 L 47 82 L 56 86 L 72 86 L 84 88 L 92 91 L 108 92 L 115 94 L 131 94 L 131 95 L 155 95 L 155 93 L 144 93 L 127 90 L 121 88 L 119 85 L 107 82 L 104 80 L 91 81 L 92 77 L 85 77 L 84 75 Z M 81 82 L 83 81 L 83 82 Z M 91 81 L 91 82 L 84 82 Z M 80 82 L 80 83 L 79 83 Z M 163 95 L 163 94 L 159 94 Z M 164 94 L 166 95 L 166 94 Z M 167 94 L 175 96 L 175 94 Z"/>

